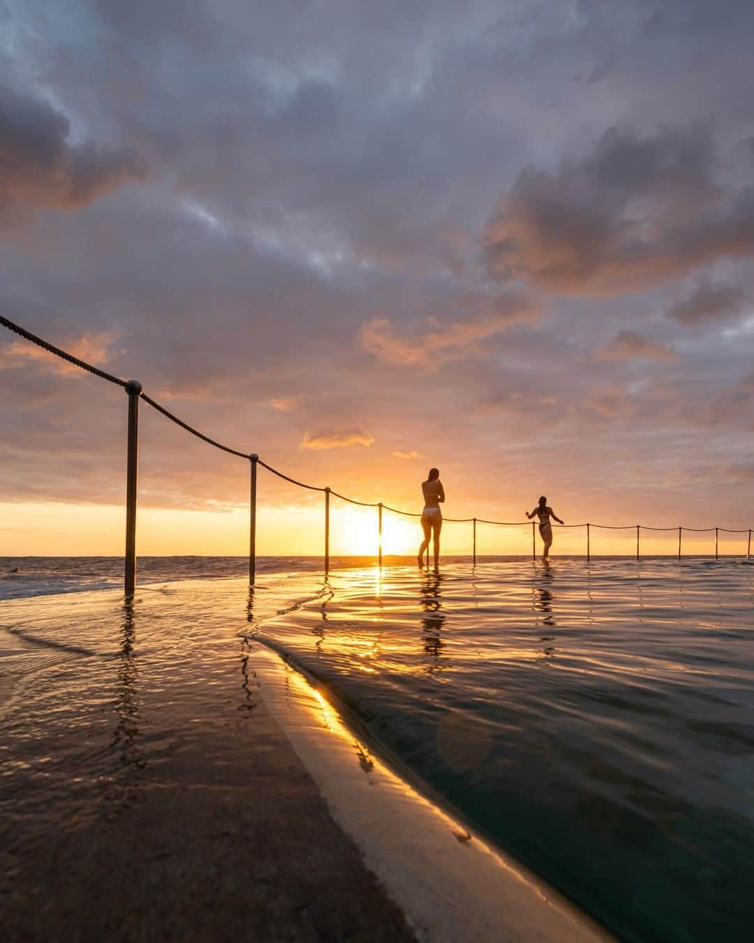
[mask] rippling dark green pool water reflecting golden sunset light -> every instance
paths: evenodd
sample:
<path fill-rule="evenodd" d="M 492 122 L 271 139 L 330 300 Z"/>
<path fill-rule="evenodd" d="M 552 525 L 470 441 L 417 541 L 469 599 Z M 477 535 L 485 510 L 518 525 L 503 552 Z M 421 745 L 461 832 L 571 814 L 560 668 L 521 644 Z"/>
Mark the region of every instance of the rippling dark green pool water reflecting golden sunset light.
<path fill-rule="evenodd" d="M 748 940 L 753 579 L 729 560 L 365 570 L 259 632 L 616 934 Z"/>

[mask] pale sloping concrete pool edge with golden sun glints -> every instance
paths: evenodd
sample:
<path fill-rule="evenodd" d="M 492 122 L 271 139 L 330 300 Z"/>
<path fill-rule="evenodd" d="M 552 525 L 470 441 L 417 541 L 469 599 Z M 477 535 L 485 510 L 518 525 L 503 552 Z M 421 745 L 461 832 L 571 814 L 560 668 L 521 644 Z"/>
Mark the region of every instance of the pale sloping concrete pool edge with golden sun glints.
<path fill-rule="evenodd" d="M 615 937 L 512 856 L 422 794 L 316 679 L 259 637 L 259 691 L 336 823 L 420 940 L 573 941 Z M 355 728 L 355 729 L 354 729 Z"/>

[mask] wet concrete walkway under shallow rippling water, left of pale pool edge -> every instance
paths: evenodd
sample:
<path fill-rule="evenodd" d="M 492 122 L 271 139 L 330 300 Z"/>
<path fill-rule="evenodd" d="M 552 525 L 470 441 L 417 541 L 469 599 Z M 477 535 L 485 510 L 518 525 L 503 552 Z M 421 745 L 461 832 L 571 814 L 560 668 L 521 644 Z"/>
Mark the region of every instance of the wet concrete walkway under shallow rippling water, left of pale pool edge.
<path fill-rule="evenodd" d="M 3 940 L 414 939 L 186 586 L 0 607 Z"/>

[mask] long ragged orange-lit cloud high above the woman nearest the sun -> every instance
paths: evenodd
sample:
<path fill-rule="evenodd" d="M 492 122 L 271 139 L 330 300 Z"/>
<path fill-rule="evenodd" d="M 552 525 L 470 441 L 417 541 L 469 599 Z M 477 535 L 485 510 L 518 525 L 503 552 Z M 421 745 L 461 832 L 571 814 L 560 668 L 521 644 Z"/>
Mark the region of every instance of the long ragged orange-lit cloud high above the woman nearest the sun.
<path fill-rule="evenodd" d="M 372 318 L 362 325 L 362 346 L 388 363 L 418 366 L 432 372 L 448 360 L 474 352 L 483 340 L 500 334 L 512 324 L 533 323 L 541 315 L 538 304 L 522 294 L 500 294 L 492 298 L 471 295 L 463 302 L 478 306 L 481 313 L 451 323 L 443 323 L 430 315 L 422 328 L 410 332 L 397 331 L 389 318 Z M 461 299 L 458 306 L 462 306 Z"/>

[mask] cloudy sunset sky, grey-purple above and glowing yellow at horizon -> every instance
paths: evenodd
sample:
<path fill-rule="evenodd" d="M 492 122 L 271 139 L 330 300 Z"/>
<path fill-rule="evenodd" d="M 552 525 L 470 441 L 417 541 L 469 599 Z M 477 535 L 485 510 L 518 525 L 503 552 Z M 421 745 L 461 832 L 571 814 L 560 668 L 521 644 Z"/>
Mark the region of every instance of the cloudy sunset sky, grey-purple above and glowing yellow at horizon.
<path fill-rule="evenodd" d="M 359 500 L 754 526 L 752 43 L 749 0 L 0 0 L 0 311 Z M 3 332 L 0 392 L 0 554 L 122 553 L 123 390 Z M 139 475 L 140 553 L 245 552 L 244 459 L 142 405 Z M 319 493 L 259 501 L 320 552 Z"/>

